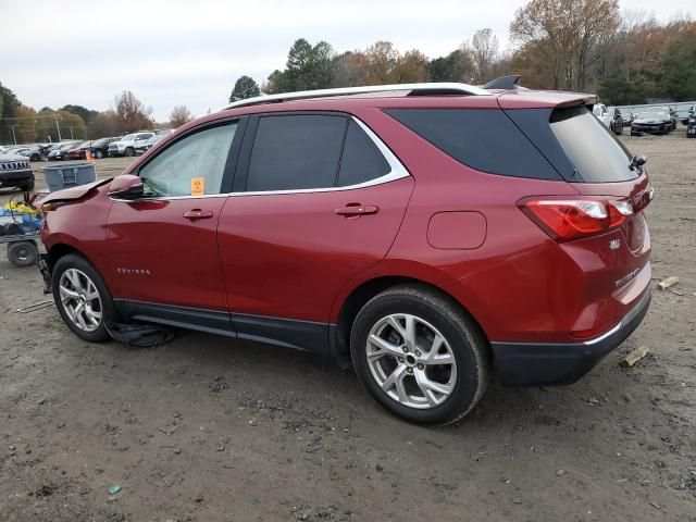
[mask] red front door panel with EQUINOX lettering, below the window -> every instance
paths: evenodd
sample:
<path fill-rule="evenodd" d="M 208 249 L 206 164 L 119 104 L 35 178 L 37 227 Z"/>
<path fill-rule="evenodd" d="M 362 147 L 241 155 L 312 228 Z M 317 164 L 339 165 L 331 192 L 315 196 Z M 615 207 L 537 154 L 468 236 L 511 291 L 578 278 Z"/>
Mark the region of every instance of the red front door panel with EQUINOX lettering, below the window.
<path fill-rule="evenodd" d="M 114 201 L 100 268 L 114 297 L 225 310 L 216 228 L 226 198 Z M 211 219 L 188 220 L 190 210 Z M 134 272 L 135 271 L 135 272 Z"/>

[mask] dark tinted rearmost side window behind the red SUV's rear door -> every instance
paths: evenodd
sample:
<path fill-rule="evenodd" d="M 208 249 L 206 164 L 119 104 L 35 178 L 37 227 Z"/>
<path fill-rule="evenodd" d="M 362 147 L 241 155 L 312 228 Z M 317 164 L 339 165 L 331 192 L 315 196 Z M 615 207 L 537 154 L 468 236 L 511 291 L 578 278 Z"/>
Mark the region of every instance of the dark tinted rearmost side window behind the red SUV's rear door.
<path fill-rule="evenodd" d="M 492 174 L 560 179 L 498 109 L 393 109 L 393 117 L 467 166 Z"/>

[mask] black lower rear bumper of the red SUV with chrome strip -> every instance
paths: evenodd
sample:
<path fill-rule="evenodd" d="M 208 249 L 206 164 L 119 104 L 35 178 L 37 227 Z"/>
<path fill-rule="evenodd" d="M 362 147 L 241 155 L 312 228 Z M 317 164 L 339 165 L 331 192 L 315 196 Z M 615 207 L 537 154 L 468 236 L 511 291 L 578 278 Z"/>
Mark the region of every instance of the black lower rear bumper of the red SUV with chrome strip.
<path fill-rule="evenodd" d="M 609 332 L 584 343 L 492 343 L 498 380 L 509 386 L 554 386 L 576 382 L 638 327 L 650 290 Z"/>

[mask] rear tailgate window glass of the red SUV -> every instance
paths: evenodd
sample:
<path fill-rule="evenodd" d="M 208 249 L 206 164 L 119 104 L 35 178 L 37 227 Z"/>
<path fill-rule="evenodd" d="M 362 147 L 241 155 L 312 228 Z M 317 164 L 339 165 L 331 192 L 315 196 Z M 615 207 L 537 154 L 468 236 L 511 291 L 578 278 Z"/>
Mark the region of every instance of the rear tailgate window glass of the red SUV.
<path fill-rule="evenodd" d="M 635 179 L 631 154 L 585 107 L 557 109 L 549 119 L 551 132 L 585 183 Z M 579 179 L 580 181 L 580 179 Z"/>

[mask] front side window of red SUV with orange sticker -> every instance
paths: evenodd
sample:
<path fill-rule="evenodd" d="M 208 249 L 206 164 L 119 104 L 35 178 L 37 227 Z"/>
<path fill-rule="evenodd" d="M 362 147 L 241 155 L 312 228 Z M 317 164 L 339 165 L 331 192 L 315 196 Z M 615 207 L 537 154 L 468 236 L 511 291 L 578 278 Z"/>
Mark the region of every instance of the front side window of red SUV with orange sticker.
<path fill-rule="evenodd" d="M 140 169 L 146 196 L 220 194 L 236 123 L 207 128 L 165 148 Z"/>

